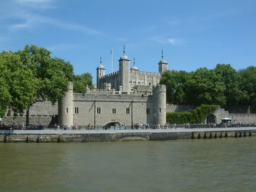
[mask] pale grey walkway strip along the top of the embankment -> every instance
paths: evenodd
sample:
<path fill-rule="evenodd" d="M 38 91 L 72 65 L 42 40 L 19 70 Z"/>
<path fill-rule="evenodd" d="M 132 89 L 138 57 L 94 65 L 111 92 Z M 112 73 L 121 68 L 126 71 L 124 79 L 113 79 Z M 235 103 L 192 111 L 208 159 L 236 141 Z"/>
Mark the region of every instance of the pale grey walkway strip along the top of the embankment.
<path fill-rule="evenodd" d="M 227 127 L 227 128 L 201 128 L 201 129 L 125 129 L 125 130 L 0 130 L 0 135 L 76 135 L 85 133 L 139 133 L 139 132 L 226 132 L 256 130 L 256 127 Z"/>

